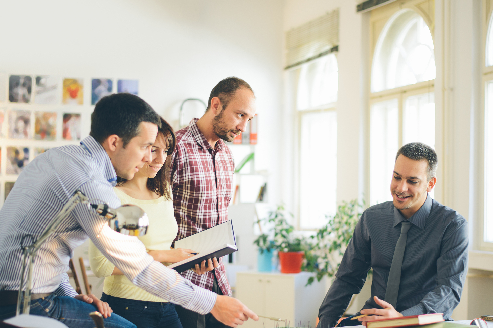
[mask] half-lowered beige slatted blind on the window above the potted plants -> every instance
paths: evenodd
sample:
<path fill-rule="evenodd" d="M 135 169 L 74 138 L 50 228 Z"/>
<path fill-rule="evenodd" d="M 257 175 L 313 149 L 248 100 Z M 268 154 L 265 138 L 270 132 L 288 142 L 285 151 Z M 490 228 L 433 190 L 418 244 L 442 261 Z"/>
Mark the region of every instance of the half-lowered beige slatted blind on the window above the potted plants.
<path fill-rule="evenodd" d="M 286 33 L 285 69 L 338 50 L 339 9 L 328 12 Z"/>

